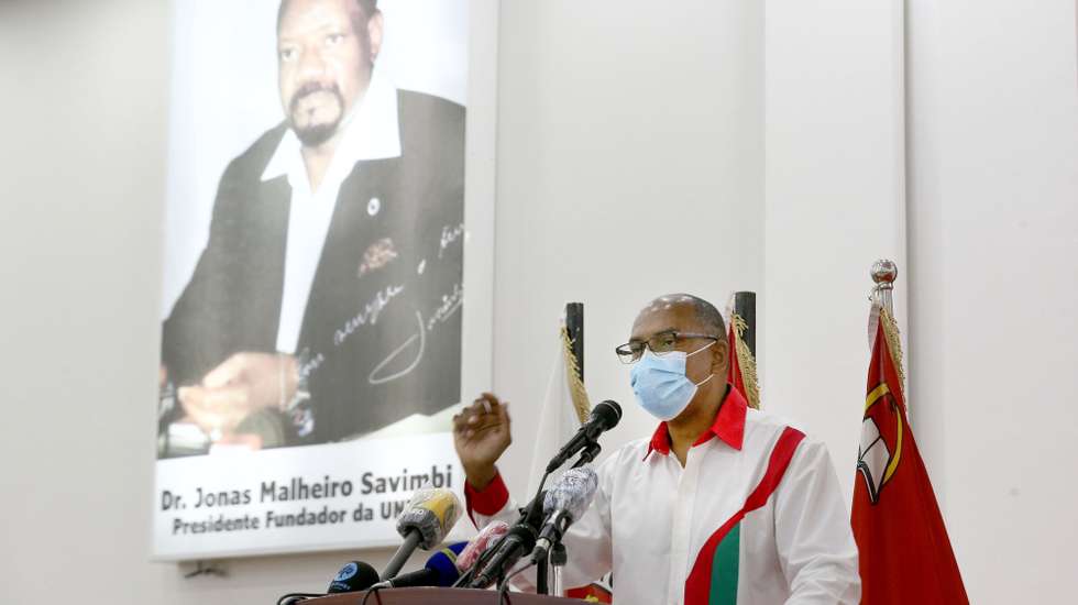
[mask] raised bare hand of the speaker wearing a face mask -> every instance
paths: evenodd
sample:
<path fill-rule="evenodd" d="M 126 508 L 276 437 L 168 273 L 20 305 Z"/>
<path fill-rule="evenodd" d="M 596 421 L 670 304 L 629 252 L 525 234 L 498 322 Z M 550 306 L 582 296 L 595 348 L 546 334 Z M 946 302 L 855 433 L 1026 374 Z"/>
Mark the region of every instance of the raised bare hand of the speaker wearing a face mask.
<path fill-rule="evenodd" d="M 497 474 L 494 463 L 513 442 L 508 405 L 484 393 L 453 416 L 453 446 L 468 482 L 477 490 L 486 487 Z"/>

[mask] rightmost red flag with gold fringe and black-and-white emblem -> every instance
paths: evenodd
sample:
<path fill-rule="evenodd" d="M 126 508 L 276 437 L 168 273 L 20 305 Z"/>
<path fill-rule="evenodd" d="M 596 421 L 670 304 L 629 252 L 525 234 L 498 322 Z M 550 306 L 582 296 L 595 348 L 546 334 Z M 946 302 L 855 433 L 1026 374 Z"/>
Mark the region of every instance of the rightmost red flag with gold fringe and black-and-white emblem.
<path fill-rule="evenodd" d="M 928 473 L 906 421 L 902 382 L 880 314 L 854 479 L 850 522 L 864 605 L 969 603 Z"/>

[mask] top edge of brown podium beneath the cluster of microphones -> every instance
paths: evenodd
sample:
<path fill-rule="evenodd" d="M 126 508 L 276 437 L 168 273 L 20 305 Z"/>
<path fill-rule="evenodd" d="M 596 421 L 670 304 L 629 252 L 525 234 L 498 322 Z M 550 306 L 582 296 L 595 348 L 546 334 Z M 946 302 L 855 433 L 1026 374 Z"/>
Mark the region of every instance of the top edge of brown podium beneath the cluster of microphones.
<path fill-rule="evenodd" d="M 310 598 L 311 605 L 359 605 L 363 592 L 334 594 Z M 366 600 L 367 605 L 497 605 L 498 593 L 473 588 L 386 588 Z M 508 593 L 505 601 L 510 605 L 580 605 L 578 598 L 544 596 L 539 594 Z"/>

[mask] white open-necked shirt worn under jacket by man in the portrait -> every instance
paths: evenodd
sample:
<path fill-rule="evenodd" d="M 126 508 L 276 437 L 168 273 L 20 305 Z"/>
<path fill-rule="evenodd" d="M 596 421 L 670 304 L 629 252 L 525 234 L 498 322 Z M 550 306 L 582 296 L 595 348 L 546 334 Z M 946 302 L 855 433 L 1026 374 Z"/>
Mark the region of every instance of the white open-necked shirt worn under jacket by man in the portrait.
<path fill-rule="evenodd" d="M 374 69 L 363 98 L 342 122 L 344 135 L 317 190 L 311 190 L 301 145 L 292 129 L 285 132 L 262 174 L 262 180 L 288 177 L 288 243 L 285 280 L 277 328 L 277 351 L 295 353 L 307 311 L 310 286 L 322 255 L 326 234 L 337 207 L 341 184 L 356 162 L 400 156 L 397 89 Z M 380 211 L 378 200 L 362 200 L 369 212 Z"/>

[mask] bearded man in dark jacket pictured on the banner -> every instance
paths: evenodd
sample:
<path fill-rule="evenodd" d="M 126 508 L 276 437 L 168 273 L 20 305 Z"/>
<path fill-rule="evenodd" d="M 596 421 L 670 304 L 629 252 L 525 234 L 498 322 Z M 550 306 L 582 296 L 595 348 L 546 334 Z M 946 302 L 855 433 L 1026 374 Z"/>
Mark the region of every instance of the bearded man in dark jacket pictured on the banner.
<path fill-rule="evenodd" d="M 464 108 L 395 88 L 384 30 L 377 0 L 282 2 L 285 119 L 226 168 L 164 321 L 161 455 L 179 426 L 322 443 L 458 403 Z"/>

